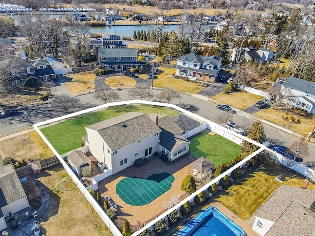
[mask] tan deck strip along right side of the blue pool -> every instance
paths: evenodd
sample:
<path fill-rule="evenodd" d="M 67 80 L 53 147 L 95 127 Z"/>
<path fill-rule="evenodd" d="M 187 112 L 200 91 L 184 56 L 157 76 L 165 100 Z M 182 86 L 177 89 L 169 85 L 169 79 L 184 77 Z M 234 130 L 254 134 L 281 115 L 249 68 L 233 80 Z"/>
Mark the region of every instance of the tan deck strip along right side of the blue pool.
<path fill-rule="evenodd" d="M 216 206 L 218 210 L 220 210 L 224 215 L 230 218 L 235 224 L 240 226 L 245 231 L 247 236 L 259 236 L 256 232 L 252 230 L 252 227 L 249 224 L 247 224 L 244 220 L 239 218 L 232 211 L 224 207 L 218 201 L 214 200 L 211 204 L 209 204 L 208 207 L 211 207 L 211 206 Z"/>

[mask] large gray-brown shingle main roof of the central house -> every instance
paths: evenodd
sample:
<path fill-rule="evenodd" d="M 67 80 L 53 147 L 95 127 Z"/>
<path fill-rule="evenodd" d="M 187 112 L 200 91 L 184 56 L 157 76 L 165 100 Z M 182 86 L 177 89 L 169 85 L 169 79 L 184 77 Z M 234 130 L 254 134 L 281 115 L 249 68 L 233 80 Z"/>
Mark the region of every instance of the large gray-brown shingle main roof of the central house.
<path fill-rule="evenodd" d="M 122 126 L 122 123 L 125 125 Z M 112 151 L 124 148 L 161 131 L 148 115 L 138 112 L 128 112 L 92 124 L 87 128 L 97 130 Z"/>

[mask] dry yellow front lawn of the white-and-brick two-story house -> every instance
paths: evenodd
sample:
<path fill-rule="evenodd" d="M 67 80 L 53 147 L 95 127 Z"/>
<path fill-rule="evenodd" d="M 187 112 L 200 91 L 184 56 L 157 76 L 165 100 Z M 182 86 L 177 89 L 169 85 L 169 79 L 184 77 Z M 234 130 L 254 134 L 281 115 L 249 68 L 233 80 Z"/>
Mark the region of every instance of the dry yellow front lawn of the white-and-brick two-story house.
<path fill-rule="evenodd" d="M 201 86 L 197 86 L 197 84 L 182 80 L 172 78 L 172 75 L 175 73 L 176 69 L 168 69 L 168 68 L 159 68 L 163 73 L 158 76 L 158 79 L 154 80 L 153 86 L 159 88 L 171 87 L 176 90 L 197 93 L 200 90 L 204 89 Z"/>

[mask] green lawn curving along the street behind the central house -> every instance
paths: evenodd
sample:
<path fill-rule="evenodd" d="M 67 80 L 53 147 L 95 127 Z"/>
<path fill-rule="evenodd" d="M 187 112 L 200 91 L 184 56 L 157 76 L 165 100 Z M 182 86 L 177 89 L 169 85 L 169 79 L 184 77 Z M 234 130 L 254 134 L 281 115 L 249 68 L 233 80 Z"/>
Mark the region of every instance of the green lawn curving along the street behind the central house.
<path fill-rule="evenodd" d="M 164 107 L 149 105 L 119 106 L 111 107 L 103 111 L 88 114 L 82 117 L 73 118 L 49 127 L 42 128 L 42 133 L 54 146 L 59 154 L 66 153 L 79 148 L 83 143 L 82 137 L 86 135 L 84 127 L 100 122 L 104 119 L 113 118 L 127 112 L 166 114 L 170 117 L 176 116 L 179 112 Z"/>

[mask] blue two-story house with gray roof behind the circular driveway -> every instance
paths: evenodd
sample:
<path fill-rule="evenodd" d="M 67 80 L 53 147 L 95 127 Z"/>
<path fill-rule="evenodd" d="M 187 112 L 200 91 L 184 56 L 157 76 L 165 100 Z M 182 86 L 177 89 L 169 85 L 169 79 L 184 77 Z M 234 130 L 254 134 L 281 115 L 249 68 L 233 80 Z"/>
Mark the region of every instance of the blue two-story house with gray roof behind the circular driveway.
<path fill-rule="evenodd" d="M 97 63 L 104 69 L 126 70 L 135 68 L 138 64 L 137 51 L 134 48 L 98 49 L 96 47 Z"/>

